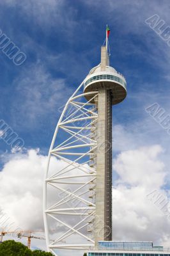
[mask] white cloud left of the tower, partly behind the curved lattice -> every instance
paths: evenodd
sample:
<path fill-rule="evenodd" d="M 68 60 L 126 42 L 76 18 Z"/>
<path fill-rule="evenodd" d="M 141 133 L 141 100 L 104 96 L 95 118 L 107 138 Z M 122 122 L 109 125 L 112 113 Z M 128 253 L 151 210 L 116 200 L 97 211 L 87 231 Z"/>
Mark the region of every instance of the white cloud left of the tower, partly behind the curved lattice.
<path fill-rule="evenodd" d="M 42 156 L 39 150 L 31 149 L 27 152 L 18 152 L 4 157 L 5 164 L 0 172 L 0 210 L 2 210 L 2 212 L 0 211 L 0 230 L 44 230 L 43 177 L 47 167 L 47 156 Z M 51 171 L 63 166 L 65 166 L 63 161 L 57 160 L 56 157 L 51 158 Z M 65 186 L 67 188 L 68 185 Z M 52 202 L 53 204 L 56 203 L 57 198 L 59 200 L 63 198 L 60 197 L 59 191 L 56 189 L 50 190 L 48 195 L 50 196 L 50 202 L 48 202 L 50 205 Z M 67 223 L 72 223 L 72 220 L 67 221 Z M 57 230 L 59 236 L 61 225 L 56 226 L 55 221 L 49 225 L 54 233 Z M 33 234 L 44 237 L 43 233 Z M 51 238 L 56 238 L 55 234 Z M 17 236 L 5 236 L 4 239 L 17 239 Z M 26 239 L 21 241 L 27 244 Z M 32 239 L 31 244 L 32 248 L 46 249 L 45 241 Z M 61 252 L 60 255 L 67 255 L 67 253 Z"/>

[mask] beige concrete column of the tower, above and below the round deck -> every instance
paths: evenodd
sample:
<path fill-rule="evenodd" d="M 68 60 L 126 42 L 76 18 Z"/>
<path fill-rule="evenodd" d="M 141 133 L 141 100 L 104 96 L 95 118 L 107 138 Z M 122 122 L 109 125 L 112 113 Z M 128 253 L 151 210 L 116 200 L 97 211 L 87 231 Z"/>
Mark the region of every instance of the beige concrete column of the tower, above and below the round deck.
<path fill-rule="evenodd" d="M 109 65 L 105 47 L 101 49 L 101 70 Z M 95 246 L 98 241 L 112 239 L 112 95 L 109 90 L 98 90 L 97 126 L 97 186 Z"/>

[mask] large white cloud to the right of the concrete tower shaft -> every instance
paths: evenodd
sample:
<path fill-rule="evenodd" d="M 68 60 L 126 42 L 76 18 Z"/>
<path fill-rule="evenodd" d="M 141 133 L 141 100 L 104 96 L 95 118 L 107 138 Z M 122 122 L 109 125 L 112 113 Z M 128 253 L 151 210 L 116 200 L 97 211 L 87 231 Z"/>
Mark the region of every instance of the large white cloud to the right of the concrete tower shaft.
<path fill-rule="evenodd" d="M 113 188 L 113 239 L 170 243 L 167 216 L 147 198 L 155 189 L 165 194 L 162 152 L 159 145 L 153 145 L 121 152 L 114 159 L 119 179 Z"/>

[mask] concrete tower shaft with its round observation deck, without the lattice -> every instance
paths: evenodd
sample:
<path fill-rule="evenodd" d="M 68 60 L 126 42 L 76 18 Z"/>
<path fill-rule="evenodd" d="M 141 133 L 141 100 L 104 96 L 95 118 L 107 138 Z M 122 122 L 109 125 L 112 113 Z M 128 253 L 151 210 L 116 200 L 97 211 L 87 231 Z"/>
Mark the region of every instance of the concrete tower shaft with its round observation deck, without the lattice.
<path fill-rule="evenodd" d="M 109 66 L 106 47 L 101 49 L 101 63 L 89 72 L 84 81 L 84 92 L 98 91 L 93 103 L 98 109 L 97 121 L 97 184 L 95 245 L 112 240 L 112 104 L 127 95 L 125 78 Z M 88 95 L 86 99 L 89 100 Z"/>

